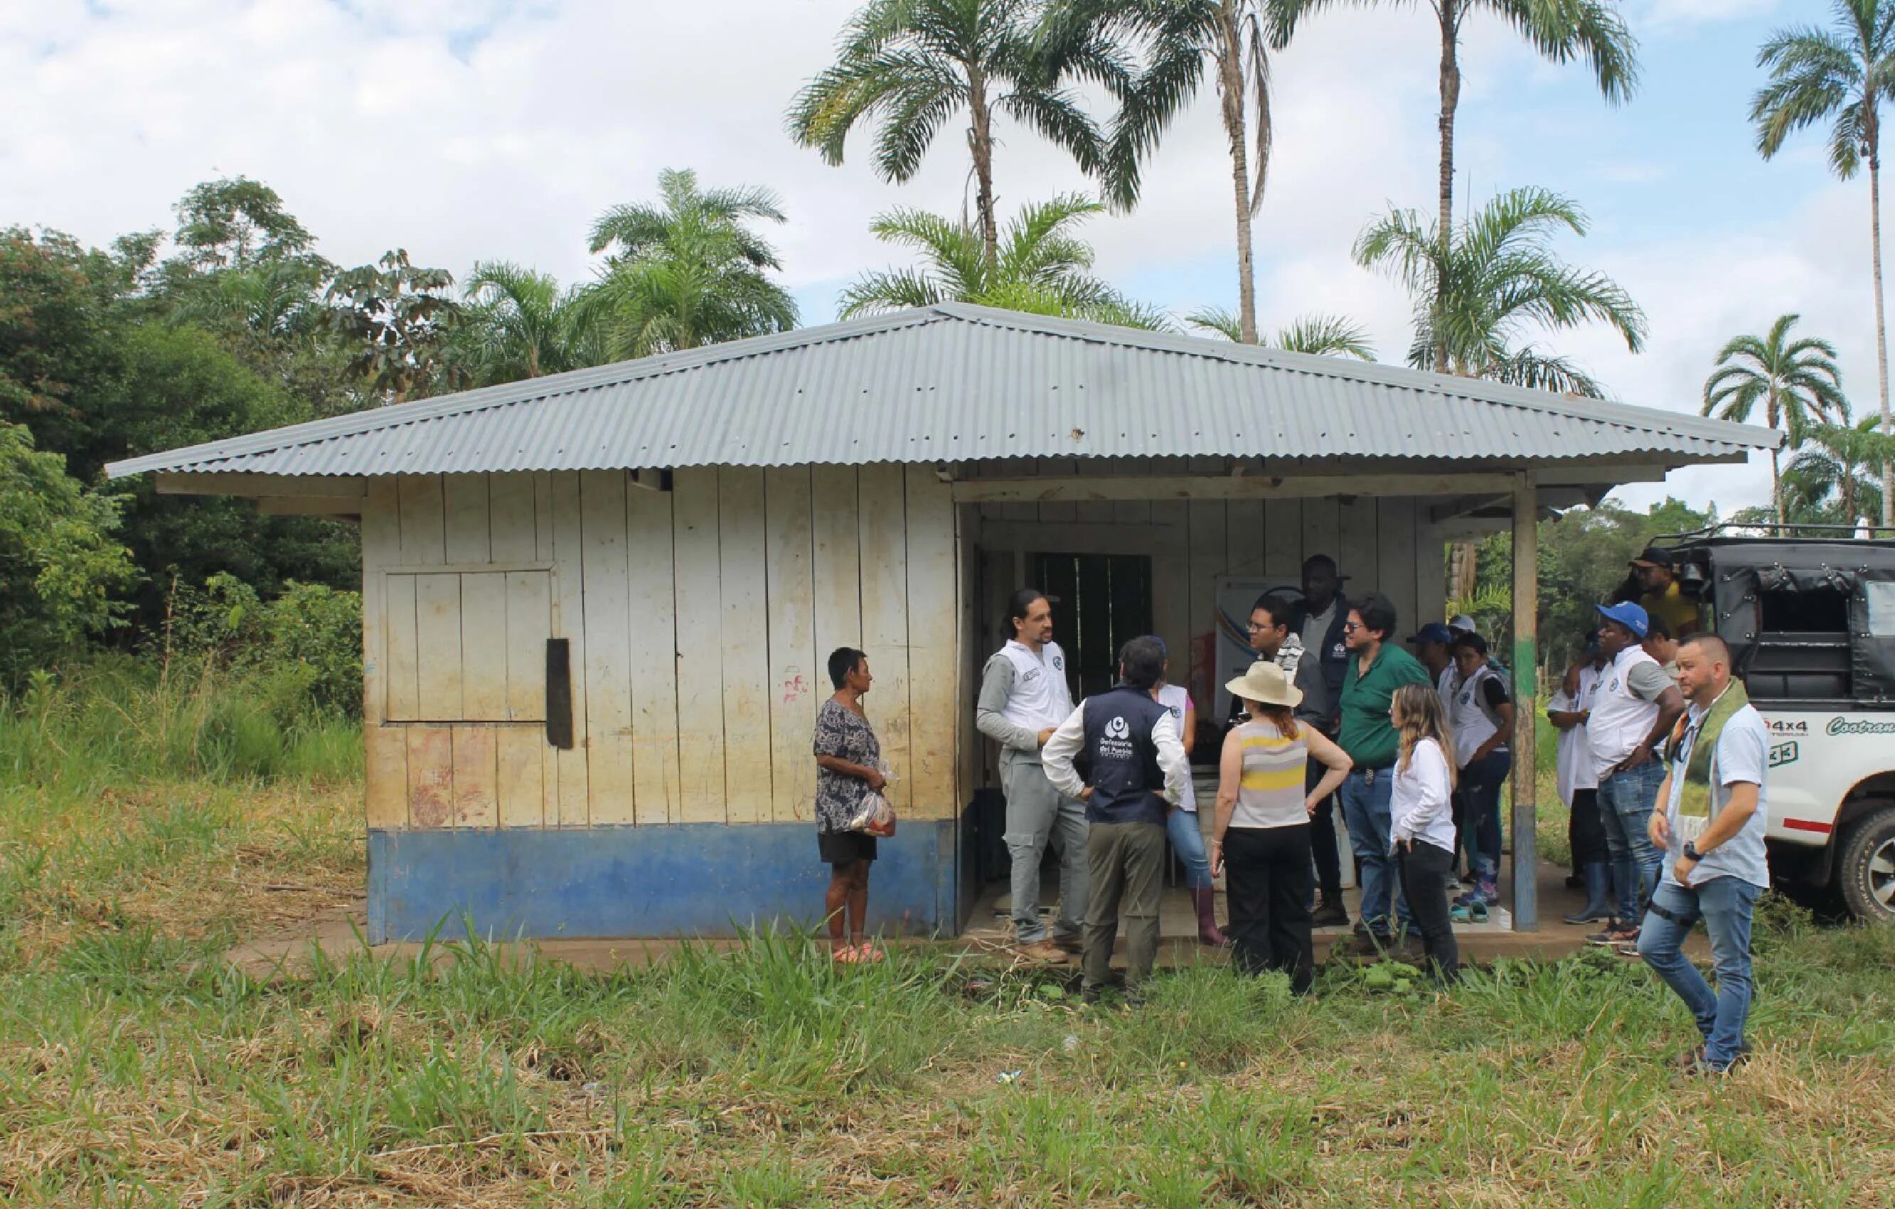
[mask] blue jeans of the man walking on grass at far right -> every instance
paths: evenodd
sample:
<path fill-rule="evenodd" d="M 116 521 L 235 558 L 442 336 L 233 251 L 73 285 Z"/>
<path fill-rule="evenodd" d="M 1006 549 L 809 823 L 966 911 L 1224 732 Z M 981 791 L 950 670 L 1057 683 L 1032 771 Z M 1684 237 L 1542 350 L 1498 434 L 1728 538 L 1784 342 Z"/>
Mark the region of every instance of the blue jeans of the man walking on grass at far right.
<path fill-rule="evenodd" d="M 1751 910 L 1759 894 L 1762 887 L 1742 877 L 1711 877 L 1690 889 L 1668 881 L 1652 893 L 1652 910 L 1639 930 L 1639 957 L 1690 1008 L 1704 1035 L 1704 1063 L 1715 1071 L 1743 1050 L 1743 1021 L 1751 1014 Z M 1715 995 L 1679 951 L 1698 919 L 1711 936 Z"/>

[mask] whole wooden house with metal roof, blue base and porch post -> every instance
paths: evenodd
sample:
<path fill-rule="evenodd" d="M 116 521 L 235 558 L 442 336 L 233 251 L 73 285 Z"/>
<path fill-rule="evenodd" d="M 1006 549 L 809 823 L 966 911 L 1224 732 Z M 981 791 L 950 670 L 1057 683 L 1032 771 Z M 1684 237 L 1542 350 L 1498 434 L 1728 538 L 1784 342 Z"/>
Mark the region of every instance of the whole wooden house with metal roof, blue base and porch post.
<path fill-rule="evenodd" d="M 462 917 L 663 936 L 817 915 L 811 724 L 843 644 L 868 652 L 900 777 L 872 910 L 919 932 L 957 929 L 978 891 L 968 805 L 997 779 L 974 694 L 1010 589 L 1057 597 L 1076 688 L 1154 631 L 1205 709 L 1222 586 L 1294 584 L 1321 551 L 1406 629 L 1442 616 L 1444 542 L 1514 525 L 1529 699 L 1533 519 L 1774 442 L 938 305 L 110 472 L 360 523 L 370 940 Z M 1514 913 L 1533 927 L 1531 900 Z"/>

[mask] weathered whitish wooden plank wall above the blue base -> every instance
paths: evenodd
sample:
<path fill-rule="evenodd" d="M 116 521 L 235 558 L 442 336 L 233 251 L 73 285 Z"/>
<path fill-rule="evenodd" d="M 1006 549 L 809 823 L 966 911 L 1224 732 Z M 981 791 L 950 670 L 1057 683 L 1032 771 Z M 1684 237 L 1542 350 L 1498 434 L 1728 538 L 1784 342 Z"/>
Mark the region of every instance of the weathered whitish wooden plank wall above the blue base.
<path fill-rule="evenodd" d="M 404 476 L 370 502 L 371 826 L 809 821 L 836 646 L 870 654 L 898 809 L 955 811 L 976 572 L 932 472 Z M 572 750 L 546 745 L 550 637 Z"/>

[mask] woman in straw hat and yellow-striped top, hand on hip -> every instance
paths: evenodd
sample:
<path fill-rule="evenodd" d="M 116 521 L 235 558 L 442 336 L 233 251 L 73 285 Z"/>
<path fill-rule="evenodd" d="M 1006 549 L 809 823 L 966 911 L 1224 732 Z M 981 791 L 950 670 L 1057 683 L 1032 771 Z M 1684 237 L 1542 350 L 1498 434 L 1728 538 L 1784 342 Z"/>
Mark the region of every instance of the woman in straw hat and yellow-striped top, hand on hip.
<path fill-rule="evenodd" d="M 1306 995 L 1315 965 L 1309 815 L 1342 788 L 1353 762 L 1294 718 L 1302 690 L 1270 659 L 1258 659 L 1224 688 L 1251 713 L 1224 735 L 1211 839 L 1211 868 L 1226 877 L 1232 961 L 1247 974 L 1283 970 L 1290 991 Z M 1325 773 L 1306 790 L 1309 760 Z"/>

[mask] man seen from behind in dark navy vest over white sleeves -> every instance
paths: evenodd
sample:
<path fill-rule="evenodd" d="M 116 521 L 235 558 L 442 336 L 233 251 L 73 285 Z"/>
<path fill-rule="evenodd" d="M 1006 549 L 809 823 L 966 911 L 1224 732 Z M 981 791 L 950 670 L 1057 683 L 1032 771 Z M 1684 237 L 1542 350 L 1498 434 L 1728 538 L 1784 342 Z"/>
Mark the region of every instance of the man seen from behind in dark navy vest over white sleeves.
<path fill-rule="evenodd" d="M 1118 917 L 1126 917 L 1126 993 L 1158 957 L 1158 893 L 1165 862 L 1165 811 L 1190 783 L 1190 760 L 1171 711 L 1152 699 L 1165 671 L 1156 639 L 1133 639 L 1118 652 L 1118 684 L 1088 697 L 1040 752 L 1046 779 L 1086 802 L 1086 1002 L 1112 972 Z M 1084 752 L 1088 775 L 1073 766 Z"/>

